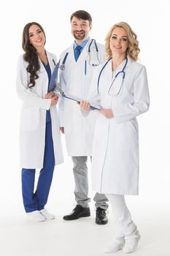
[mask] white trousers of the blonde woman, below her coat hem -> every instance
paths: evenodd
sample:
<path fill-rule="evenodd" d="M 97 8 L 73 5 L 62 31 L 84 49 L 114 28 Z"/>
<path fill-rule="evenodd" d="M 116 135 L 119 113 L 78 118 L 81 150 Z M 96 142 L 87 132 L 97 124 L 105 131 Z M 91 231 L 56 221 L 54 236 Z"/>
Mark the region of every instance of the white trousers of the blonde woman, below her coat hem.
<path fill-rule="evenodd" d="M 131 219 L 131 214 L 125 204 L 124 195 L 107 195 L 112 206 L 112 214 L 117 226 L 115 238 L 136 238 L 138 230 Z"/>

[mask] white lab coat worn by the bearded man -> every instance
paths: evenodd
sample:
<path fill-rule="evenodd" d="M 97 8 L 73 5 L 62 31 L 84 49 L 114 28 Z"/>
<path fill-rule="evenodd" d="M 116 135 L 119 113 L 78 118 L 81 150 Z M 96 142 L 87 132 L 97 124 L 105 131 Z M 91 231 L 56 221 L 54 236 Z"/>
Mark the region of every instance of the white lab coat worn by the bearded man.
<path fill-rule="evenodd" d="M 74 96 L 82 99 L 87 99 L 91 79 L 93 77 L 93 70 L 96 67 L 92 67 L 89 64 L 88 54 L 88 41 L 85 48 L 82 50 L 77 62 L 74 58 L 74 45 L 61 53 L 62 64 L 63 58 L 66 53 L 69 53 L 65 69 L 60 70 L 60 84 L 61 89 L 64 92 L 73 94 Z M 97 44 L 98 46 L 98 59 L 100 62 L 104 62 L 104 45 Z M 94 48 L 94 45 L 91 45 Z M 92 50 L 91 48 L 91 50 Z M 86 61 L 86 74 L 85 74 L 85 61 Z M 59 113 L 61 127 L 64 127 L 66 148 L 69 156 L 91 156 L 93 132 L 96 122 L 96 112 L 91 112 L 87 118 L 82 116 L 81 110 L 77 102 L 69 99 L 60 100 Z"/>

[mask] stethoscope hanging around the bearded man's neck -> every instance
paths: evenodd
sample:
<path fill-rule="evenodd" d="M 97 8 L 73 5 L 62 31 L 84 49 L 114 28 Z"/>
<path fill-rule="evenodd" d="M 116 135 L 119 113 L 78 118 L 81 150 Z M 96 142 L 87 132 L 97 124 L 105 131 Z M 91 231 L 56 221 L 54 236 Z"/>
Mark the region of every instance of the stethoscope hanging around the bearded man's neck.
<path fill-rule="evenodd" d="M 92 46 L 95 46 L 95 51 L 96 51 L 96 57 L 94 58 L 94 56 L 92 56 Z M 66 59 L 68 57 L 69 53 L 66 53 L 64 58 L 63 58 L 63 61 L 62 61 L 62 64 L 60 65 L 60 69 L 61 70 L 64 70 L 65 69 L 65 64 L 66 64 Z M 91 42 L 90 44 L 88 45 L 88 55 L 89 55 L 89 64 L 90 66 L 98 66 L 100 64 L 100 61 L 98 59 L 98 46 L 96 44 L 96 40 L 95 39 L 91 39 Z"/>

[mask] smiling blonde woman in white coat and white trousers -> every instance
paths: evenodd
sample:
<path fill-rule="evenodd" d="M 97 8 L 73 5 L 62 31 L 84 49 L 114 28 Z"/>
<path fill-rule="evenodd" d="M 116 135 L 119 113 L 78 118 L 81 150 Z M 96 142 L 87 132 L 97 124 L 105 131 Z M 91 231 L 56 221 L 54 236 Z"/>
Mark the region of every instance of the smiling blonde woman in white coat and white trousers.
<path fill-rule="evenodd" d="M 120 22 L 106 37 L 107 61 L 93 77 L 89 99 L 98 110 L 92 154 L 93 190 L 107 195 L 117 231 L 105 252 L 134 252 L 140 235 L 124 195 L 138 195 L 139 137 L 136 116 L 146 112 L 150 98 L 147 73 L 137 63 L 139 42 L 131 27 Z M 90 110 L 88 102 L 80 102 Z"/>

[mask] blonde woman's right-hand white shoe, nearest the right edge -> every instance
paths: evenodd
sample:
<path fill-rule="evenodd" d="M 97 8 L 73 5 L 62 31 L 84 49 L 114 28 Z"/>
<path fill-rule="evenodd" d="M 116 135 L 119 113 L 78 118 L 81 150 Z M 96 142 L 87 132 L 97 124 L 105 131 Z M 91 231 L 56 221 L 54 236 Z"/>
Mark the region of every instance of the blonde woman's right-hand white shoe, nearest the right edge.
<path fill-rule="evenodd" d="M 132 236 L 125 237 L 125 246 L 123 247 L 123 252 L 125 253 L 134 252 L 140 238 L 141 236 L 139 235 L 139 232 L 136 233 L 133 237 Z"/>

